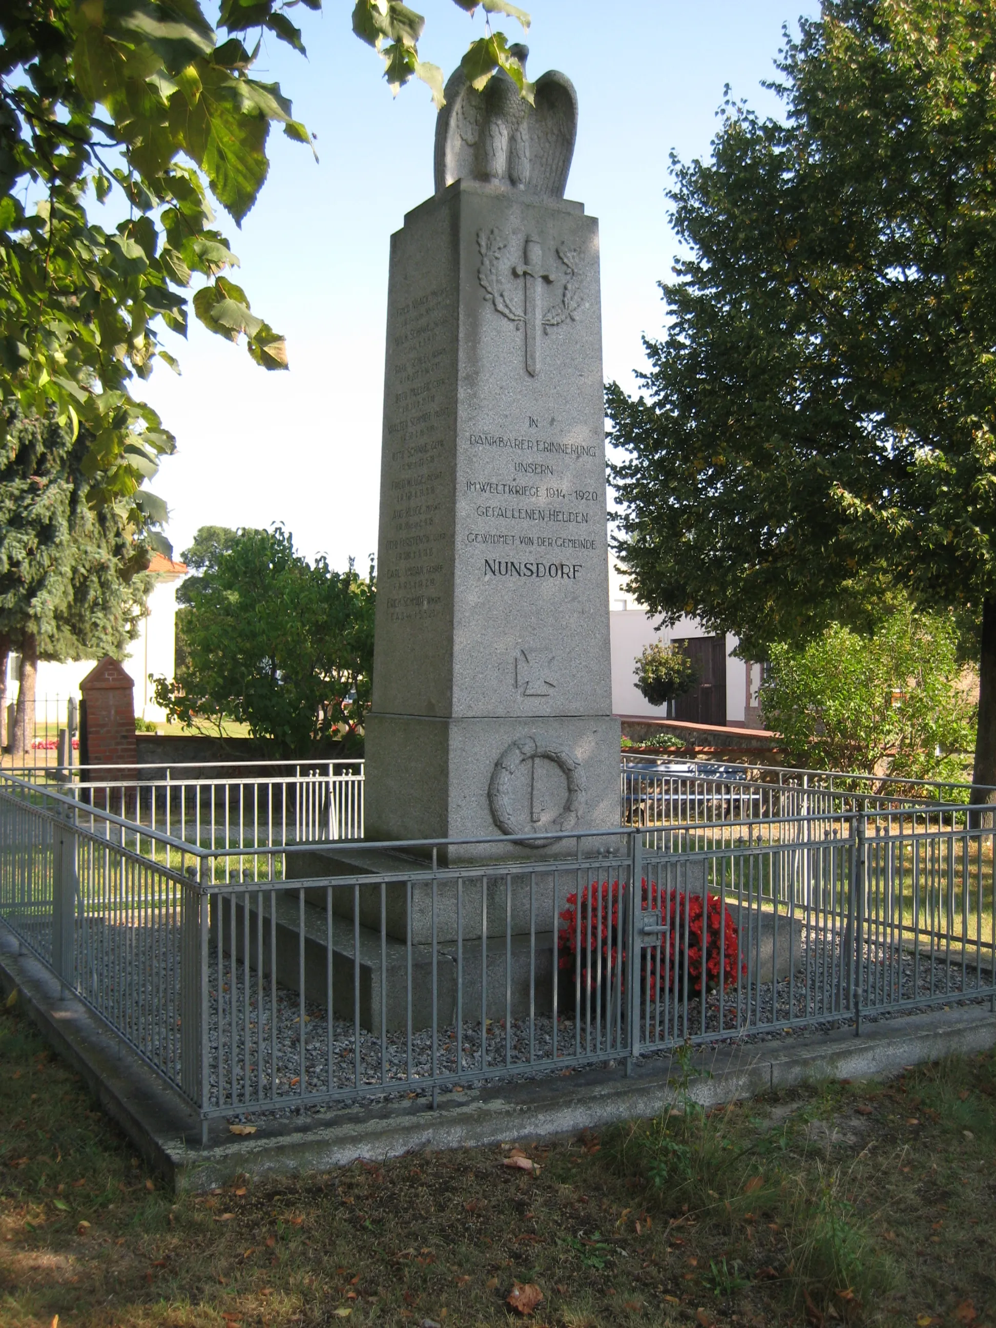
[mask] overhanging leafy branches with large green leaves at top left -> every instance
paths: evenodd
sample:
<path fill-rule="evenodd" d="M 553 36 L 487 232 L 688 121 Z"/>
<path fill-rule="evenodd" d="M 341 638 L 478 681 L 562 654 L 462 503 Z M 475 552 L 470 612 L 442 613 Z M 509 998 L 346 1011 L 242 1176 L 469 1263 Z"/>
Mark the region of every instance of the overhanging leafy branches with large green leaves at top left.
<path fill-rule="evenodd" d="M 283 337 L 231 279 L 239 260 L 207 193 L 238 226 L 270 169 L 270 126 L 311 142 L 280 88 L 252 77 L 260 41 L 248 49 L 266 32 L 304 54 L 287 12 L 296 3 L 219 0 L 214 21 L 197 0 L 0 8 L 0 396 L 16 396 L 25 414 L 53 406 L 61 424 L 85 425 L 102 477 L 92 497 L 129 498 L 135 519 L 166 515 L 139 485 L 174 440 L 130 394 L 130 380 L 146 378 L 157 357 L 175 368 L 161 329 L 186 335 L 193 307 L 210 331 L 244 337 L 263 368 L 287 368 Z M 482 3 L 529 25 L 513 5 Z M 353 31 L 377 48 L 392 89 L 418 77 L 441 105 L 442 73 L 418 56 L 422 27 L 396 0 L 353 9 Z M 463 68 L 478 88 L 505 69 L 531 97 L 522 64 L 490 27 Z M 90 195 L 112 194 L 124 219 L 105 228 L 88 208 Z M 190 296 L 195 278 L 203 284 Z"/>

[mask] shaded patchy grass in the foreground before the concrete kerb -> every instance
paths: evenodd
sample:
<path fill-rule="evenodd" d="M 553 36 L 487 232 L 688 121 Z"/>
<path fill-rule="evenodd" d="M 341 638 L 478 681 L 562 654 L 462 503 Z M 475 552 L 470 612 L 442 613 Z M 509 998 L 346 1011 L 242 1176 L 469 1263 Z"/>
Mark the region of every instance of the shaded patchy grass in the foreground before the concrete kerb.
<path fill-rule="evenodd" d="M 915 1122 L 915 1123 L 914 1123 Z M 167 1194 L 0 1016 L 0 1324 L 996 1323 L 996 1062 Z"/>

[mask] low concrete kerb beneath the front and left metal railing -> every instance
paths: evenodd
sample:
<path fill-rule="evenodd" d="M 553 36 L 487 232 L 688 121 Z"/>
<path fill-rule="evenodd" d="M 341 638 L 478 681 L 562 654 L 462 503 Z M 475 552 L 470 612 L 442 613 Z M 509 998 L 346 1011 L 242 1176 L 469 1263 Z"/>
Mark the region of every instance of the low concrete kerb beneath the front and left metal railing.
<path fill-rule="evenodd" d="M 235 1175 L 264 1179 L 329 1170 L 357 1158 L 384 1159 L 425 1147 L 575 1134 L 655 1116 L 679 1096 L 679 1068 L 669 1056 L 655 1054 L 632 1064 L 629 1074 L 624 1064 L 610 1061 L 566 1078 L 446 1093 L 437 1110 L 421 1100 L 321 1117 L 271 1117 L 258 1122 L 256 1134 L 238 1139 L 227 1122 L 212 1121 L 208 1142 L 201 1147 L 194 1113 L 74 996 L 64 999 L 57 979 L 36 959 L 19 954 L 16 939 L 1 923 L 0 985 L 5 995 L 17 988 L 23 1011 L 175 1190 L 207 1190 Z M 906 1065 L 993 1045 L 996 1015 L 987 1001 L 865 1023 L 861 1037 L 854 1028 L 838 1028 L 699 1048 L 695 1065 L 701 1073 L 692 1080 L 691 1093 L 703 1105 L 718 1105 L 827 1078 L 888 1077 Z"/>

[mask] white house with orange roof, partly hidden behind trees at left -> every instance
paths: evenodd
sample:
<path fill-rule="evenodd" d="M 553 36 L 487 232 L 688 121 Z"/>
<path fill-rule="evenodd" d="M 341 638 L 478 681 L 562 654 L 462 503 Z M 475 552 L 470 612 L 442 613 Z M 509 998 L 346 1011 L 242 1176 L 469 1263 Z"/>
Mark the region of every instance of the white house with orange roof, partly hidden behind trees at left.
<path fill-rule="evenodd" d="M 138 624 L 138 639 L 127 647 L 121 661 L 125 672 L 135 683 L 135 716 L 143 720 L 162 721 L 166 712 L 153 701 L 153 684 L 149 675 L 173 677 L 177 655 L 177 583 L 187 572 L 186 563 L 174 562 L 162 554 L 153 554 L 149 563 L 153 588 L 149 595 L 145 616 Z M 17 697 L 19 660 L 11 656 L 8 668 L 8 700 Z M 96 660 L 73 660 L 68 664 L 39 663 L 37 714 L 39 725 L 56 726 L 65 724 L 65 708 L 70 696 L 80 695 L 80 683 Z"/>

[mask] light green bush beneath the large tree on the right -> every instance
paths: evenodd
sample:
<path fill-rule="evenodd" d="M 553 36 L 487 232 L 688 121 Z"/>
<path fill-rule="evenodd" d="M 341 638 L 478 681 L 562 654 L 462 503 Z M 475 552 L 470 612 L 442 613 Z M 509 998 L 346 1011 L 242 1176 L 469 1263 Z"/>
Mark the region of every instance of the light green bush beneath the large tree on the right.
<path fill-rule="evenodd" d="M 900 603 L 871 635 L 833 624 L 776 643 L 765 724 L 793 765 L 963 780 L 975 730 L 952 615 Z"/>

